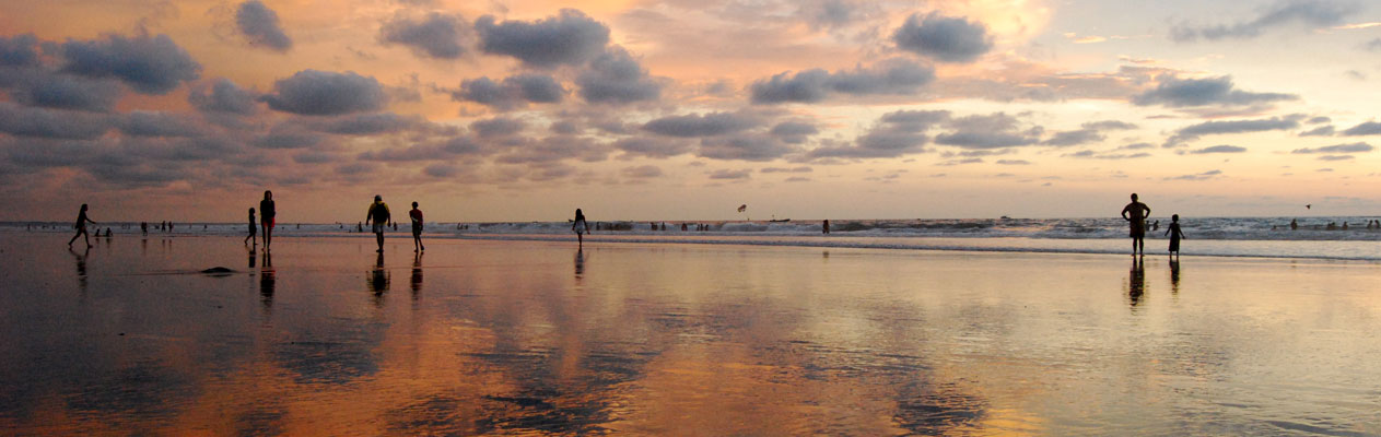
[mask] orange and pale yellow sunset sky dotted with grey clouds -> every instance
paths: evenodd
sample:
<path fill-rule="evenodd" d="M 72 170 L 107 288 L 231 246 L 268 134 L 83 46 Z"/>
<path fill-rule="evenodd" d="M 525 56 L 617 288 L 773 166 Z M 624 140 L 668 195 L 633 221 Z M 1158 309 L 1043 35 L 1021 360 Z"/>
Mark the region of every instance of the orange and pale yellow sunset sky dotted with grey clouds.
<path fill-rule="evenodd" d="M 1378 215 L 1378 91 L 1366 1 L 0 1 L 0 221 Z"/>

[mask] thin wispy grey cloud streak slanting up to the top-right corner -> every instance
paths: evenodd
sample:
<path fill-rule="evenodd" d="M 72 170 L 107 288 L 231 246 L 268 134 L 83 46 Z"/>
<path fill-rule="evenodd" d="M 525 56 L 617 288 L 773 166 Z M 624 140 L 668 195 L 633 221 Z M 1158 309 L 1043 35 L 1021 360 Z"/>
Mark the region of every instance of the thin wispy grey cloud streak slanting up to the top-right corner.
<path fill-rule="evenodd" d="M 1230 25 L 1190 26 L 1178 25 L 1170 30 L 1170 39 L 1186 43 L 1200 37 L 1206 40 L 1222 39 L 1250 39 L 1261 36 L 1262 32 L 1287 25 L 1298 25 L 1304 29 L 1320 29 L 1338 25 L 1358 11 L 1356 4 L 1324 0 L 1291 0 L 1276 3 L 1269 10 L 1250 21 Z"/>

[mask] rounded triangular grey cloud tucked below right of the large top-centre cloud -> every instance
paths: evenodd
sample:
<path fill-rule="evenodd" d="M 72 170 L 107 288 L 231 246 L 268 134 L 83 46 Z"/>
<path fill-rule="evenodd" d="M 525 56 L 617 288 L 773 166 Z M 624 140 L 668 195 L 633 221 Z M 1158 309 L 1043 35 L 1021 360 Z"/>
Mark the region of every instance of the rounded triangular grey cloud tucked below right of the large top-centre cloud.
<path fill-rule="evenodd" d="M 623 105 L 661 96 L 661 84 L 619 47 L 612 47 L 590 62 L 576 77 L 576 84 L 580 85 L 580 96 L 590 103 Z"/>

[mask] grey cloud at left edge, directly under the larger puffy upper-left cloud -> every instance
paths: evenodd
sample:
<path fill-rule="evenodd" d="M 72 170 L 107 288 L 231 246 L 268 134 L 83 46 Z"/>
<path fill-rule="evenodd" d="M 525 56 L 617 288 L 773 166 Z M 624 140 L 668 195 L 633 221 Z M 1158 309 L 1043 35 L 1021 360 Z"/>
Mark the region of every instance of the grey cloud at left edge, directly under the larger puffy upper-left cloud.
<path fill-rule="evenodd" d="M 0 70 L 0 88 L 28 106 L 109 112 L 120 98 L 113 80 L 88 79 L 43 69 Z"/>

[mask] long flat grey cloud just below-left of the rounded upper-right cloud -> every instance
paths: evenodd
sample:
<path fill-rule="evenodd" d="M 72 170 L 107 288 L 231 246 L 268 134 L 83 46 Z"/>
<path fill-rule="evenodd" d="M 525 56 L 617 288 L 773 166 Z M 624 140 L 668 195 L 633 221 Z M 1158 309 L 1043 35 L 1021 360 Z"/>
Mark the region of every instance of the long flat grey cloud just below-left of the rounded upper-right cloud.
<path fill-rule="evenodd" d="M 881 62 L 871 69 L 823 69 L 780 73 L 749 85 L 754 103 L 819 102 L 831 94 L 910 95 L 935 80 L 935 69 L 906 59 Z"/>

